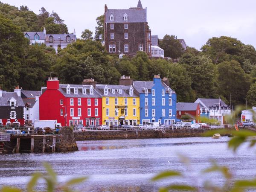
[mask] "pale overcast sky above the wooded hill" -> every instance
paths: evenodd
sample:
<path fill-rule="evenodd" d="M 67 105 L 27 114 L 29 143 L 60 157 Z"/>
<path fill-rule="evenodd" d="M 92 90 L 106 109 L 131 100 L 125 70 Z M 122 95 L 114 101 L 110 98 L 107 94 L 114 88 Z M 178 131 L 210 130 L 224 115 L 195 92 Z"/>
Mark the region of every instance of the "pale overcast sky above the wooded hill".
<path fill-rule="evenodd" d="M 80 38 L 84 29 L 95 31 L 96 17 L 109 9 L 128 9 L 138 0 L 1 0 L 13 6 L 26 5 L 39 14 L 44 6 L 54 10 L 69 32 L 76 29 Z M 152 35 L 177 35 L 190 47 L 200 49 L 209 38 L 231 36 L 256 47 L 256 0 L 141 0 L 147 7 Z"/>

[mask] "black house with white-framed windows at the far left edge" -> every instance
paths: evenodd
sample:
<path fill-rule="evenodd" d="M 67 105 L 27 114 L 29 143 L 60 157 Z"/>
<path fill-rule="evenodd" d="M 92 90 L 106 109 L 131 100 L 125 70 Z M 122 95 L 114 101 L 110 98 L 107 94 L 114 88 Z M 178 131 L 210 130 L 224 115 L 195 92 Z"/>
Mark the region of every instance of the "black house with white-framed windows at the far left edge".
<path fill-rule="evenodd" d="M 0 89 L 0 125 L 24 125 L 25 105 L 21 98 L 21 89 L 14 92 Z"/>

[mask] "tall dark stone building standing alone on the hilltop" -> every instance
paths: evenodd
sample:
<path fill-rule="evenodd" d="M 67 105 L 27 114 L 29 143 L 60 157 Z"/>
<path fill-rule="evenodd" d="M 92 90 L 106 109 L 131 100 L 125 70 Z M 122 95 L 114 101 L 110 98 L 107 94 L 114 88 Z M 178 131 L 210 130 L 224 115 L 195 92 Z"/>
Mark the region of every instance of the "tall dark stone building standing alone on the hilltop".
<path fill-rule="evenodd" d="M 137 7 L 108 9 L 105 5 L 105 49 L 111 54 L 136 55 L 144 51 L 151 56 L 151 30 L 147 21 L 147 9 L 139 0 Z"/>

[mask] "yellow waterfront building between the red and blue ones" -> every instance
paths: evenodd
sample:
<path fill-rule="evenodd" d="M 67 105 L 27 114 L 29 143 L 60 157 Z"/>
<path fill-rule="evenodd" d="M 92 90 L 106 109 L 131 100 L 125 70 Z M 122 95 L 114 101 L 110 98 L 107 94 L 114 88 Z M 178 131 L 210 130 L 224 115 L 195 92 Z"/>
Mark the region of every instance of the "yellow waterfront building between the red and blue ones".
<path fill-rule="evenodd" d="M 96 84 L 102 95 L 102 124 L 140 124 L 140 96 L 132 86 Z"/>

